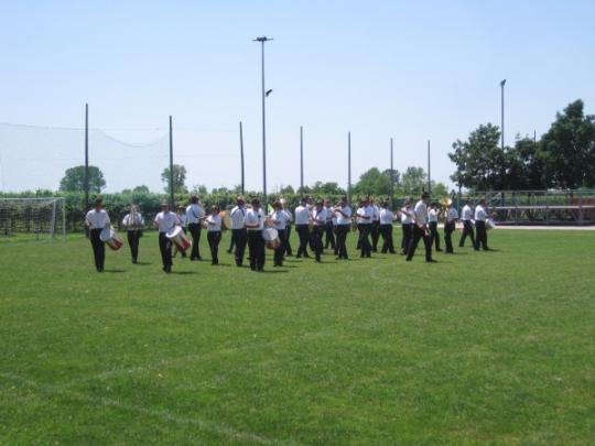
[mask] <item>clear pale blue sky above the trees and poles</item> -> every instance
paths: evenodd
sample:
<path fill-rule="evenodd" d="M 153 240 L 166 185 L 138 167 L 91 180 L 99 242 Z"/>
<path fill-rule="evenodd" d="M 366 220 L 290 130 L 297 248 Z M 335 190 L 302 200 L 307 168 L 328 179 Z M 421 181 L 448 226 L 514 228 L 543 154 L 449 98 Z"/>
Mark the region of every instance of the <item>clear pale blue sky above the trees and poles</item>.
<path fill-rule="evenodd" d="M 300 126 L 306 184 L 346 184 L 347 131 L 354 180 L 388 167 L 393 137 L 398 170 L 425 167 L 431 140 L 432 176 L 450 183 L 452 142 L 479 123 L 499 124 L 504 78 L 507 143 L 545 132 L 577 98 L 595 112 L 594 23 L 593 1 L 6 1 L 0 122 L 82 127 L 89 102 L 91 127 L 142 142 L 172 115 L 175 162 L 188 186 L 210 188 L 239 184 L 241 120 L 247 186 L 260 189 L 260 47 L 251 39 L 266 34 L 274 39 L 270 192 L 299 186 Z M 64 168 L 83 162 L 78 139 L 36 138 L 7 146 L 0 132 L 4 189 L 56 188 Z M 108 191 L 161 189 L 166 144 L 144 159 L 109 154 L 122 156 L 119 170 L 101 164 L 101 150 L 91 146 L 91 163 Z M 42 163 L 51 153 L 60 160 Z"/>

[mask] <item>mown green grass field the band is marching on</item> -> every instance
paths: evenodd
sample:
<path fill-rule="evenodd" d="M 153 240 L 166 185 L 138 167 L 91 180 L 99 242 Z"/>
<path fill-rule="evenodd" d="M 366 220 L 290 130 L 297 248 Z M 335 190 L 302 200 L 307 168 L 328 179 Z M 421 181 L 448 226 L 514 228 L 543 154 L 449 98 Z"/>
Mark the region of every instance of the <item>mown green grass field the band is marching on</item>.
<path fill-rule="evenodd" d="M 0 443 L 593 444 L 595 232 L 490 244 L 166 275 L 154 233 L 104 274 L 4 240 Z"/>

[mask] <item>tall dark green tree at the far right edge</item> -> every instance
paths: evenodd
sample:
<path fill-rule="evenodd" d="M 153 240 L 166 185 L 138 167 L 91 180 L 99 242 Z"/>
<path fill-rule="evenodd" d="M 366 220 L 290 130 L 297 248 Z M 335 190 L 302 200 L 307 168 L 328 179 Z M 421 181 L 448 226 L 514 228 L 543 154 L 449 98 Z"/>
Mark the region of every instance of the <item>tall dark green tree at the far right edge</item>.
<path fill-rule="evenodd" d="M 584 115 L 581 99 L 556 113 L 541 139 L 539 157 L 550 187 L 595 185 L 595 116 Z"/>

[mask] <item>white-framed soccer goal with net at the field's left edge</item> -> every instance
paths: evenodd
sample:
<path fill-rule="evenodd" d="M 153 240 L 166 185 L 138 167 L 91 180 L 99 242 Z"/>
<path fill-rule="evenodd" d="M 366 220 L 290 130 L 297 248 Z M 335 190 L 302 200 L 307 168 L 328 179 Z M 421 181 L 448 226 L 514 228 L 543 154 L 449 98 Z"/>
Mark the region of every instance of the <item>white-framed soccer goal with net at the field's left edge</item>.
<path fill-rule="evenodd" d="M 0 237 L 66 238 L 66 200 L 0 198 Z"/>

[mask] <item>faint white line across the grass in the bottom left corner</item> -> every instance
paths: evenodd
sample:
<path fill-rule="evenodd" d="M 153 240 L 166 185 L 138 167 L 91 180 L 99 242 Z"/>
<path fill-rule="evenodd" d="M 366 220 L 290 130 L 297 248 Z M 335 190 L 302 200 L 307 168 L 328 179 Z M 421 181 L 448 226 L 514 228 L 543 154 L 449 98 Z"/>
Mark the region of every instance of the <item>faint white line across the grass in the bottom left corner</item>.
<path fill-rule="evenodd" d="M 221 423 L 214 423 L 210 421 L 204 421 L 196 417 L 188 418 L 185 416 L 178 416 L 166 410 L 147 409 L 147 407 L 142 407 L 136 404 L 122 403 L 118 400 L 113 400 L 109 398 L 95 398 L 95 396 L 90 396 L 80 392 L 64 390 L 64 389 L 56 388 L 53 385 L 45 385 L 45 384 L 35 382 L 33 380 L 19 377 L 13 373 L 0 373 L 0 377 L 6 380 L 17 382 L 21 385 L 33 388 L 46 394 L 67 396 L 67 398 L 79 400 L 86 403 L 90 403 L 93 405 L 116 407 L 116 409 L 127 411 L 127 412 L 133 412 L 133 413 L 145 415 L 145 416 L 161 418 L 166 422 L 172 422 L 172 423 L 182 424 L 182 425 L 190 425 L 190 426 L 197 427 L 201 431 L 206 431 L 214 434 L 224 435 L 232 439 L 238 439 L 242 442 L 252 442 L 252 443 L 258 443 L 262 445 L 294 445 L 295 444 L 295 443 L 279 440 L 279 439 L 264 438 L 260 435 L 252 434 L 250 432 L 237 431 L 234 427 L 227 426 Z"/>

